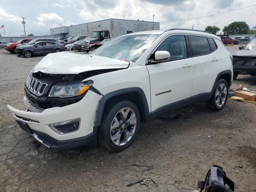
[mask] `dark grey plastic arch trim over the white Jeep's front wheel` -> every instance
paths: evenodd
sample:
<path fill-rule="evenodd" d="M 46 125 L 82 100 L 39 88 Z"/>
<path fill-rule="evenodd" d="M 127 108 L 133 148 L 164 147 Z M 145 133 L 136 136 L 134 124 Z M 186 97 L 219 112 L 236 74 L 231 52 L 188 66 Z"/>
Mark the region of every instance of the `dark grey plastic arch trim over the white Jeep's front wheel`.
<path fill-rule="evenodd" d="M 142 106 L 143 106 L 142 110 L 143 110 L 143 112 L 145 113 L 145 115 L 147 117 L 148 114 L 149 114 L 149 109 L 148 109 L 148 101 L 146 99 L 144 91 L 141 88 L 138 88 L 138 87 L 124 88 L 124 89 L 120 89 L 120 90 L 110 92 L 110 93 L 108 93 L 108 94 L 106 94 L 102 97 L 102 99 L 98 103 L 98 108 L 97 108 L 97 111 L 96 111 L 94 127 L 97 127 L 97 126 L 101 125 L 104 108 L 105 108 L 106 102 L 109 99 L 111 99 L 115 96 L 119 96 L 119 95 L 126 94 L 126 93 L 131 93 L 131 92 L 136 92 L 140 95 L 140 97 L 142 99 L 141 100 Z"/>

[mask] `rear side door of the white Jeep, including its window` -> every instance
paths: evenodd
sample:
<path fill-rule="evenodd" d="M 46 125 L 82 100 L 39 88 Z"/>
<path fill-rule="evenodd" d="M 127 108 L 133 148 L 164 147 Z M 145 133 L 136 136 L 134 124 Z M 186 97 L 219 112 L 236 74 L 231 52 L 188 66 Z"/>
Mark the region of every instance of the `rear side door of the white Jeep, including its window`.
<path fill-rule="evenodd" d="M 218 49 L 212 38 L 189 35 L 188 40 L 192 59 L 194 61 L 194 80 L 191 101 L 211 96 L 213 84 L 216 80 L 216 70 L 219 57 Z M 214 43 L 214 48 L 212 43 Z"/>

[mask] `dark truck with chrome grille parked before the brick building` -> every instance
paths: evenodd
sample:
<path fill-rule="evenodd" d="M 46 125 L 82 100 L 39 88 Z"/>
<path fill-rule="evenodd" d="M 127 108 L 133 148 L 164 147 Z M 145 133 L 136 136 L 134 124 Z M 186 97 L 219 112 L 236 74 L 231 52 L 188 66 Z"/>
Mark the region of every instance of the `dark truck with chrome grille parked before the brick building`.
<path fill-rule="evenodd" d="M 110 38 L 108 30 L 92 31 L 91 37 L 84 39 L 82 50 L 85 50 L 86 52 L 93 51 L 99 47 L 98 43 L 106 38 Z"/>

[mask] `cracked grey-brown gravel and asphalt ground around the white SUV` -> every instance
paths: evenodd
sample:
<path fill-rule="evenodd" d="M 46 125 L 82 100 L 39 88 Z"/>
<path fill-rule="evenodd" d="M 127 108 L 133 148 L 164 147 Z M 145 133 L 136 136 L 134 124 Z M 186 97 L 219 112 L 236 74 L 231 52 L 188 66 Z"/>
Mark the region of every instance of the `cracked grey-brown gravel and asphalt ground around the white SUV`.
<path fill-rule="evenodd" d="M 234 52 L 238 46 L 227 49 Z M 149 120 L 130 148 L 118 154 L 101 148 L 60 151 L 40 145 L 18 127 L 6 105 L 24 108 L 23 84 L 42 58 L 19 58 L 0 50 L 1 192 L 192 192 L 212 164 L 224 167 L 236 191 L 256 191 L 256 105 L 252 103 L 228 100 L 220 112 L 196 103 L 180 109 L 177 122 Z M 240 83 L 256 89 L 256 77 L 239 75 L 232 88 Z M 126 187 L 140 178 L 151 178 L 158 186 L 150 182 Z"/>

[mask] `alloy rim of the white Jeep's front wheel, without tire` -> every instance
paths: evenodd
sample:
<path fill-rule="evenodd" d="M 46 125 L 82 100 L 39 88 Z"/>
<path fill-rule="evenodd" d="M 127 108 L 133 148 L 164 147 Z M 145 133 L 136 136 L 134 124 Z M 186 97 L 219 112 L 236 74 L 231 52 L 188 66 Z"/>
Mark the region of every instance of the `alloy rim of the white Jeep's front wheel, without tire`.
<path fill-rule="evenodd" d="M 122 108 L 114 116 L 110 126 L 110 138 L 117 146 L 127 144 L 136 129 L 136 114 L 131 108 Z"/>

